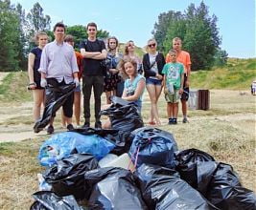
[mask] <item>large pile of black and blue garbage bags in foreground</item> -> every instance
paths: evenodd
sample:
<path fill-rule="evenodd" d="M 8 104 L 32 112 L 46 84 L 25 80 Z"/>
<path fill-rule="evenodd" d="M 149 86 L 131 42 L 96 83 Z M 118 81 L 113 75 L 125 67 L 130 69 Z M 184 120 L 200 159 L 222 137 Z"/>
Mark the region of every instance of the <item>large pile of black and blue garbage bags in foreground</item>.
<path fill-rule="evenodd" d="M 178 151 L 171 133 L 143 123 L 52 136 L 38 159 L 46 169 L 33 210 L 256 209 L 232 166 L 197 149 Z"/>

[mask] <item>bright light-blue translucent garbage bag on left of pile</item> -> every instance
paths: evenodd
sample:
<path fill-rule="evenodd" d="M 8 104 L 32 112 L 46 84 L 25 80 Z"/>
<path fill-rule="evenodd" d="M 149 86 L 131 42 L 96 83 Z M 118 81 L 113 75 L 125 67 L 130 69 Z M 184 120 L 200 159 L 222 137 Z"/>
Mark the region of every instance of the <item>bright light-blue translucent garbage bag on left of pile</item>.
<path fill-rule="evenodd" d="M 39 149 L 38 159 L 42 166 L 57 164 L 57 160 L 76 153 L 88 153 L 98 160 L 104 158 L 115 145 L 98 135 L 81 135 L 64 132 L 47 139 Z"/>

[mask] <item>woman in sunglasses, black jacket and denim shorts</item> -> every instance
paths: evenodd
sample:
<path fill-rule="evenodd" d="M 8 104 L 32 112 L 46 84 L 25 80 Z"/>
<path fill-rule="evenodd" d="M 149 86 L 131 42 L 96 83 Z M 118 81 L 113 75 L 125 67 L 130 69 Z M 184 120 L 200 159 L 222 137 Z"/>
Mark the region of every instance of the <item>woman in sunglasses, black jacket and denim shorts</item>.
<path fill-rule="evenodd" d="M 165 58 L 161 52 L 156 51 L 156 47 L 155 39 L 150 39 L 147 46 L 148 53 L 144 54 L 142 61 L 146 77 L 146 88 L 151 99 L 150 125 L 161 125 L 157 101 L 162 91 L 162 69 L 165 65 Z"/>

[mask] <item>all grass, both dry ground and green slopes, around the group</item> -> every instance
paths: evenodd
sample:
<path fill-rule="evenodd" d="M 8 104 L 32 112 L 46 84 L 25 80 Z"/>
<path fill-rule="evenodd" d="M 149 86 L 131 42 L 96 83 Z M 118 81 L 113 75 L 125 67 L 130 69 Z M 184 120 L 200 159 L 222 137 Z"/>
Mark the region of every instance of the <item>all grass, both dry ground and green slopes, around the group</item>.
<path fill-rule="evenodd" d="M 254 64 L 255 59 L 231 59 L 226 68 L 193 73 L 192 84 L 198 84 L 195 87 L 199 88 L 209 88 L 211 83 L 216 82 L 214 84 L 221 87 L 222 79 L 229 76 L 232 81 L 238 76 L 236 73 L 239 73 L 239 69 L 244 75 L 246 71 L 254 73 L 255 69 L 251 70 Z M 237 86 L 229 82 L 226 88 L 248 89 L 250 79 L 252 78 L 244 79 Z M 25 90 L 27 81 L 27 73 L 10 73 L 0 85 L 0 126 L 3 131 L 21 132 L 28 125 L 33 125 L 31 103 L 29 107 L 24 105 L 25 101 L 32 101 L 31 92 Z M 256 97 L 248 91 L 244 93 L 210 90 L 210 110 L 189 111 L 188 124 L 181 123 L 179 111 L 176 126 L 167 125 L 166 102 L 161 95 L 158 108 L 162 126 L 159 128 L 175 136 L 180 150 L 197 148 L 212 155 L 217 161 L 231 164 L 244 187 L 255 191 Z M 150 106 L 148 94 L 145 93 L 142 116 L 146 123 L 149 121 Z M 10 117 L 5 119 L 3 115 L 7 114 Z M 56 124 L 60 124 L 59 116 Z M 44 171 L 37 161 L 38 150 L 48 137 L 38 136 L 36 139 L 28 138 L 20 142 L 0 143 L 0 209 L 29 209 L 34 201 L 31 195 L 38 189 L 36 174 Z"/>

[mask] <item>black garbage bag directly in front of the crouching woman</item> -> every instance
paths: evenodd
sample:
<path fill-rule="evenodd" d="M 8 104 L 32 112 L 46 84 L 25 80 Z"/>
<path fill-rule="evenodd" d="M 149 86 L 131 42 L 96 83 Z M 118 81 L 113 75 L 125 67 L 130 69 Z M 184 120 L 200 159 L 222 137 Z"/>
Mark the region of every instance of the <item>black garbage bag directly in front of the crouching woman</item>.
<path fill-rule="evenodd" d="M 108 115 L 112 129 L 123 132 L 132 132 L 144 126 L 141 115 L 136 106 L 131 102 L 113 96 L 112 105 L 100 112 L 100 115 Z"/>

